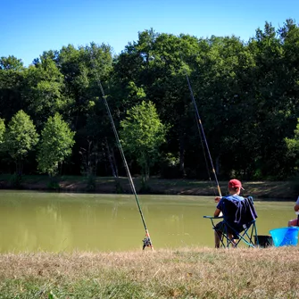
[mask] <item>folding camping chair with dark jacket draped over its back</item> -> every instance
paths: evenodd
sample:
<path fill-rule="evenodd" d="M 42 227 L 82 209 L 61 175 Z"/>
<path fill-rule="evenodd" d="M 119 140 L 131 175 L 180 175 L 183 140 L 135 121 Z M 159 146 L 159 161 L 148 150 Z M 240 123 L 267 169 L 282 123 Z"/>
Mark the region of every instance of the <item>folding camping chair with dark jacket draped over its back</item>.
<path fill-rule="evenodd" d="M 241 242 L 249 247 L 258 245 L 257 228 L 255 220 L 257 213 L 253 206 L 253 197 L 249 196 L 244 201 L 233 202 L 223 198 L 223 216 L 203 216 L 210 219 L 212 228 L 220 238 L 220 247 L 237 247 Z M 223 221 L 223 232 L 216 229 L 219 220 Z M 228 232 L 233 236 L 228 237 Z"/>

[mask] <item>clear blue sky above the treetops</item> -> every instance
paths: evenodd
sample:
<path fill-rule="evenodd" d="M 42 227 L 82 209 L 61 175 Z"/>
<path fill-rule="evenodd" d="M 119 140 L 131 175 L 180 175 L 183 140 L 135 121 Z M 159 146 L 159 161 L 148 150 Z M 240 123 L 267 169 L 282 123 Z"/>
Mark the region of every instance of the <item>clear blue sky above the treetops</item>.
<path fill-rule="evenodd" d="M 0 56 L 25 66 L 62 46 L 109 44 L 120 54 L 138 31 L 195 37 L 236 35 L 247 41 L 270 21 L 299 23 L 299 0 L 0 0 Z"/>

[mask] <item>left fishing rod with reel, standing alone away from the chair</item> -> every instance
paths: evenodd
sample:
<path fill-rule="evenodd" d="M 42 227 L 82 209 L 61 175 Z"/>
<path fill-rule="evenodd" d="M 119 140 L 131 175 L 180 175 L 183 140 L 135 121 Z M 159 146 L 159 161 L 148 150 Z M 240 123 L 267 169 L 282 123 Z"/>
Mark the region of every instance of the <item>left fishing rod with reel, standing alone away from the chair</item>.
<path fill-rule="evenodd" d="M 98 80 L 98 84 L 99 84 L 99 87 L 101 89 L 101 93 L 102 93 L 102 97 L 103 97 L 103 101 L 104 101 L 104 105 L 106 107 L 106 110 L 108 112 L 108 116 L 109 116 L 109 119 L 111 121 L 111 124 L 112 124 L 112 129 L 113 129 L 113 132 L 114 132 L 114 135 L 115 135 L 115 138 L 116 138 L 116 141 L 117 141 L 117 144 L 120 148 L 120 154 L 121 154 L 121 158 L 122 158 L 122 161 L 125 165 L 125 169 L 126 169 L 126 172 L 127 172 L 127 175 L 128 175 L 128 178 L 129 178 L 129 185 L 131 187 L 131 190 L 133 192 L 133 194 L 135 195 L 135 199 L 136 199 L 136 202 L 137 202 L 137 206 L 138 206 L 138 211 L 140 213 L 140 216 L 141 216 L 141 220 L 142 220 L 142 223 L 144 225 L 144 228 L 145 228 L 145 238 L 143 239 L 143 249 L 145 249 L 145 247 L 151 247 L 151 249 L 153 250 L 154 249 L 154 246 L 152 244 L 152 240 L 151 240 L 151 237 L 150 237 L 150 234 L 148 232 L 148 229 L 146 228 L 146 224 L 145 224 L 145 217 L 144 217 L 144 214 L 141 210 L 141 207 L 140 207 L 140 203 L 139 203 L 139 200 L 138 200 L 138 196 L 137 196 L 137 192 L 136 192 L 136 189 L 135 189 L 135 186 L 134 186 L 134 183 L 133 183 L 133 179 L 131 177 L 131 174 L 129 172 L 129 166 L 128 166 L 128 163 L 127 163 L 127 160 L 126 160 L 126 157 L 125 157 L 125 154 L 123 153 L 123 150 L 122 150 L 122 146 L 120 144 L 120 138 L 119 138 L 119 135 L 117 133 L 117 130 L 115 128 L 115 125 L 114 125 L 114 121 L 112 119 L 112 113 L 110 112 L 110 108 L 109 108 L 109 105 L 108 105 L 108 102 L 107 102 L 107 99 L 106 99 L 106 96 L 104 95 L 104 89 L 102 87 L 102 84 L 101 84 L 101 81 Z"/>

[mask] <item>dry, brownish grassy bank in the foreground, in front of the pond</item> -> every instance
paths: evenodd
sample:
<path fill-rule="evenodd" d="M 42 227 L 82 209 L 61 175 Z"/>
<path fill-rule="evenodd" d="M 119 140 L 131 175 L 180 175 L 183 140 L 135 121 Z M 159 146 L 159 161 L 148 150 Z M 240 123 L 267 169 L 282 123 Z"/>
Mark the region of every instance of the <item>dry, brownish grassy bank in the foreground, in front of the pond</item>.
<path fill-rule="evenodd" d="M 0 255 L 1 298 L 298 298 L 297 247 Z"/>

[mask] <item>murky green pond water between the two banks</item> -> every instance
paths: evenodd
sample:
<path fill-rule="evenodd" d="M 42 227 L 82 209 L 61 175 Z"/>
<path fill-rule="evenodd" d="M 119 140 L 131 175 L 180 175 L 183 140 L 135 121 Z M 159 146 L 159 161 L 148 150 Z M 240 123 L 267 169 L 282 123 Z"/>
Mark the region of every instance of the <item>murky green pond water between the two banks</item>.
<path fill-rule="evenodd" d="M 213 246 L 210 196 L 138 195 L 155 248 Z M 255 201 L 259 235 L 286 227 L 294 202 Z M 0 191 L 0 253 L 126 251 L 145 237 L 134 195 Z"/>

